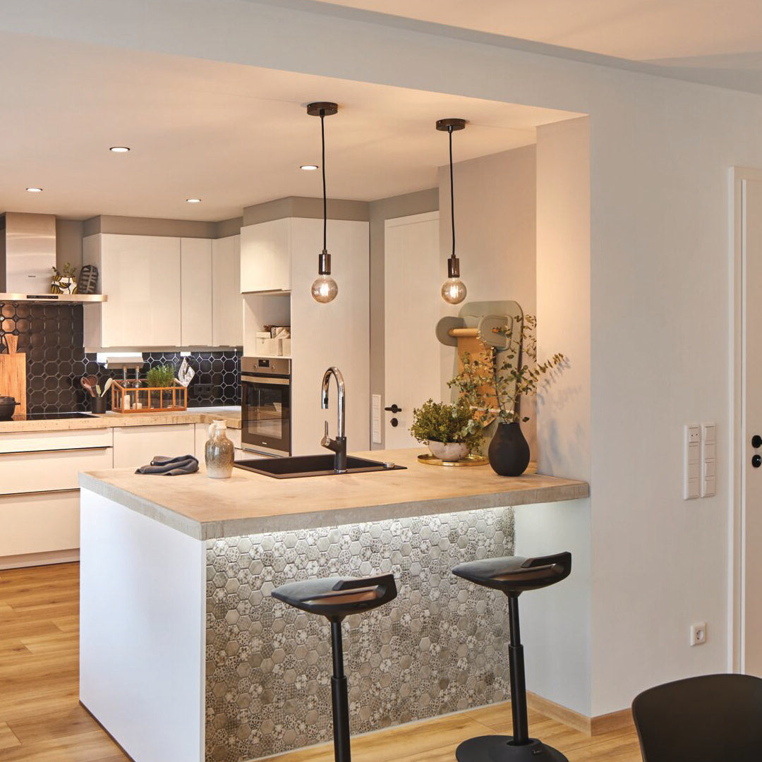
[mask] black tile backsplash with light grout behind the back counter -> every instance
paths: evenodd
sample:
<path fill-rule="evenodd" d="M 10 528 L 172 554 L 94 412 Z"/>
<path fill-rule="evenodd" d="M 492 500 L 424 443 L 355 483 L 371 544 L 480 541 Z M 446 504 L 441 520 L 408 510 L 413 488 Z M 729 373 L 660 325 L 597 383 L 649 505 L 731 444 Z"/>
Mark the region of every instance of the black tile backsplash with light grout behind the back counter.
<path fill-rule="evenodd" d="M 92 373 L 105 383 L 107 372 L 83 348 L 83 308 L 75 304 L 0 303 L 0 335 L 18 336 L 27 355 L 27 412 L 86 411 L 88 396 L 79 379 Z M 142 374 L 156 363 L 179 368 L 179 352 L 143 353 Z M 188 362 L 196 376 L 188 387 L 188 406 L 239 405 L 241 353 L 235 350 L 193 352 Z M 2 390 L 0 390 L 2 391 Z"/>

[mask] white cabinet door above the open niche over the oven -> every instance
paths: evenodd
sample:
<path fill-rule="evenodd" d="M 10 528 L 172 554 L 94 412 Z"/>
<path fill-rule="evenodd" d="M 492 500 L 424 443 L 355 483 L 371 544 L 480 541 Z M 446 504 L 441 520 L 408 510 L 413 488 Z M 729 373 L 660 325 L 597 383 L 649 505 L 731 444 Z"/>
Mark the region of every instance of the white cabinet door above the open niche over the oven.
<path fill-rule="evenodd" d="M 291 290 L 291 226 L 284 218 L 242 227 L 242 293 Z"/>

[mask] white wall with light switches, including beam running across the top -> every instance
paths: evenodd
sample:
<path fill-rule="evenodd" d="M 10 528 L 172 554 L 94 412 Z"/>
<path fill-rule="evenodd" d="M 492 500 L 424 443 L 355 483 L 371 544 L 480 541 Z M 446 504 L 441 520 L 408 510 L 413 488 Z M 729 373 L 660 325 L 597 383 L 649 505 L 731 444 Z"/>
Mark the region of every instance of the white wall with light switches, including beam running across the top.
<path fill-rule="evenodd" d="M 0 28 L 590 114 L 589 712 L 724 670 L 727 168 L 762 167 L 762 98 L 381 21 L 309 2 L 29 0 Z M 718 494 L 685 503 L 680 431 L 702 420 L 718 425 Z M 689 648 L 697 619 L 709 642 Z M 557 686 L 578 680 L 576 664 L 556 666 Z"/>

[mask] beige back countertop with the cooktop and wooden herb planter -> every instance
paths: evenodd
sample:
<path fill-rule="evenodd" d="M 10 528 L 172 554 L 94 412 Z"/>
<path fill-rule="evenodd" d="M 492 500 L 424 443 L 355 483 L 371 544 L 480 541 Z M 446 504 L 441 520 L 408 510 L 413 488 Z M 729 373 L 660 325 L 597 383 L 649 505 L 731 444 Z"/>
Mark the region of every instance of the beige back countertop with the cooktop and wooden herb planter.
<path fill-rule="evenodd" d="M 162 426 L 167 424 L 210 424 L 223 418 L 229 428 L 241 428 L 240 407 L 188 408 L 175 413 L 112 413 L 92 418 L 57 418 L 47 421 L 0 421 L 0 434 L 19 431 L 73 431 L 75 429 Z"/>

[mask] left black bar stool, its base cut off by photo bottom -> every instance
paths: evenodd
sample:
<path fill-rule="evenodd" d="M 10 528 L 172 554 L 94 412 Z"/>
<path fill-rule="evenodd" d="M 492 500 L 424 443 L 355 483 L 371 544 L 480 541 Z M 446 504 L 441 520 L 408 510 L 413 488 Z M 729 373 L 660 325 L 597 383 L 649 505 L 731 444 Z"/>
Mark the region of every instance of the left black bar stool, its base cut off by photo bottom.
<path fill-rule="evenodd" d="M 331 650 L 334 674 L 331 677 L 331 706 L 336 762 L 350 762 L 349 693 L 344 675 L 344 642 L 341 620 L 350 614 L 376 609 L 397 597 L 394 576 L 350 578 L 329 577 L 291 582 L 275 588 L 273 597 L 289 606 L 325 616 L 331 622 Z"/>

